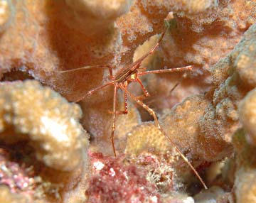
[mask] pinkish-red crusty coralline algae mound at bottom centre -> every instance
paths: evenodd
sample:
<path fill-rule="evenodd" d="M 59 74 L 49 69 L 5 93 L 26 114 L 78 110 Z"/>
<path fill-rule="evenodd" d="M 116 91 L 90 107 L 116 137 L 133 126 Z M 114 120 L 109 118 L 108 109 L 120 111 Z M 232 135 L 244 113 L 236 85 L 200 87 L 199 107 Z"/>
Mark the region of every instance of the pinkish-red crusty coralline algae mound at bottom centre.
<path fill-rule="evenodd" d="M 156 187 L 146 180 L 146 170 L 129 165 L 121 156 L 92 153 L 92 177 L 88 180 L 87 202 L 161 202 Z"/>

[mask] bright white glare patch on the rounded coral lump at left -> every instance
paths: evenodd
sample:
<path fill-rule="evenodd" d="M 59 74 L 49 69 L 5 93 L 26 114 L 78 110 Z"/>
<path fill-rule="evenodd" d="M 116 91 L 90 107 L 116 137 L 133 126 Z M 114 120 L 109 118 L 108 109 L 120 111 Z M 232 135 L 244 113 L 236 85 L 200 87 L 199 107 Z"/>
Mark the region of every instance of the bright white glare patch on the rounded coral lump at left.
<path fill-rule="evenodd" d="M 41 122 L 43 124 L 43 128 L 41 128 L 42 133 L 50 132 L 59 142 L 65 142 L 70 140 L 68 138 L 68 135 L 65 133 L 68 126 L 60 124 L 58 121 L 50 119 L 48 116 L 42 116 Z"/>

